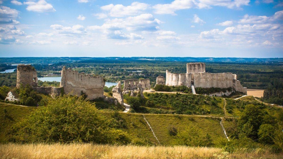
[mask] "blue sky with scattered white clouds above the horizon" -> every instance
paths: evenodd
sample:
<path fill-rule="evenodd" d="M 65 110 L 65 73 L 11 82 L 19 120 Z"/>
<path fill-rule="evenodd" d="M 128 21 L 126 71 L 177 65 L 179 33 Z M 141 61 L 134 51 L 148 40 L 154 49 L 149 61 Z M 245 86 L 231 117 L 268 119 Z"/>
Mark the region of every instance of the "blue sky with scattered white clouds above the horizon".
<path fill-rule="evenodd" d="M 0 0 L 0 57 L 283 57 L 283 1 Z"/>

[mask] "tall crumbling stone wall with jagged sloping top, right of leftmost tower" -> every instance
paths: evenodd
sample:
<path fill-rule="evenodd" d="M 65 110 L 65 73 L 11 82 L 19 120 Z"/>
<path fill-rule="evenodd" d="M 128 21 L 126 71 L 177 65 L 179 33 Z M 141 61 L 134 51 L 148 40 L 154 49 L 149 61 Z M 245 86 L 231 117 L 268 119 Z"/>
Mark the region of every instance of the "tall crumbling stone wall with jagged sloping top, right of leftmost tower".
<path fill-rule="evenodd" d="M 104 97 L 103 87 L 105 81 L 101 76 L 91 76 L 84 73 L 78 73 L 71 68 L 66 69 L 65 66 L 61 72 L 60 87 L 64 87 L 66 94 L 80 96 L 83 93 L 87 95 L 87 99 L 92 100 L 99 97 Z"/>

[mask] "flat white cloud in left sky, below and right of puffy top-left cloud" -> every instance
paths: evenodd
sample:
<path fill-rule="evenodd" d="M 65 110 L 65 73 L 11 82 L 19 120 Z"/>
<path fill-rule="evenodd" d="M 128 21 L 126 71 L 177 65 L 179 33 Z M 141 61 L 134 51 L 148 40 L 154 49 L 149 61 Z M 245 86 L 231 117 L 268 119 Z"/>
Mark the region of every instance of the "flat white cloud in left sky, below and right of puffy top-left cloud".
<path fill-rule="evenodd" d="M 82 25 L 73 25 L 72 27 L 64 27 L 63 25 L 53 24 L 50 25 L 52 29 L 57 31 L 59 34 L 66 36 L 80 36 L 85 35 L 86 31 Z"/>

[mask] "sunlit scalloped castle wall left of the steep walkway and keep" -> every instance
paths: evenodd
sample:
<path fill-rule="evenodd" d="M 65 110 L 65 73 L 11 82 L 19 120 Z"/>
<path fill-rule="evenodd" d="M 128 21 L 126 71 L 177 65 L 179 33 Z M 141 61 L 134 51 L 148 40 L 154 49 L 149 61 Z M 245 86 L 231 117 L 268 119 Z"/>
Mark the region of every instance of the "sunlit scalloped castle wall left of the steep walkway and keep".
<path fill-rule="evenodd" d="M 166 85 L 191 87 L 191 74 L 173 74 L 166 70 Z"/>

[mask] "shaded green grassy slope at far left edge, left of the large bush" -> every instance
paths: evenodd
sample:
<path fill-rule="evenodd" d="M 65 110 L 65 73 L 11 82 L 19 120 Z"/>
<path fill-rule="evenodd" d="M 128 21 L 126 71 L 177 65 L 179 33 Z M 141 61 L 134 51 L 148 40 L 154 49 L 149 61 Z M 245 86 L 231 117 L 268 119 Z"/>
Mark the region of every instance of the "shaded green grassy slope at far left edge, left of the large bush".
<path fill-rule="evenodd" d="M 4 109 L 7 110 L 6 117 Z M 27 117 L 36 107 L 22 107 L 0 102 L 0 143 L 5 142 L 5 132 L 12 124 Z"/>

